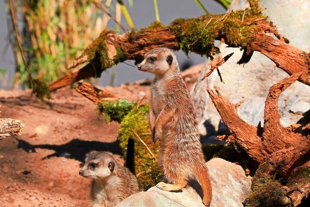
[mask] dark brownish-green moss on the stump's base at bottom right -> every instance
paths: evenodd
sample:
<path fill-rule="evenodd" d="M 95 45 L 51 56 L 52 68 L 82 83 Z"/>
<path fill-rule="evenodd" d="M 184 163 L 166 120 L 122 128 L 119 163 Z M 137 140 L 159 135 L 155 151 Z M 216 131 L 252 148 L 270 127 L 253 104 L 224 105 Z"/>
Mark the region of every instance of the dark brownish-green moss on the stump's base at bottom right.
<path fill-rule="evenodd" d="M 245 207 L 290 207 L 283 186 L 276 180 L 275 169 L 269 161 L 257 169 L 251 185 L 251 192 L 245 201 Z"/>

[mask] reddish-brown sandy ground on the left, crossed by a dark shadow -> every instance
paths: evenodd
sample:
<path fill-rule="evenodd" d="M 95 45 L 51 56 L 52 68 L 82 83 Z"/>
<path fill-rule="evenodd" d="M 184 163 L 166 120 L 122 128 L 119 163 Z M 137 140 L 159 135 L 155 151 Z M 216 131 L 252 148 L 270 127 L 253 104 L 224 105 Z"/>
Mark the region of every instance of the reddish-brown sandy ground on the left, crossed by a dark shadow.
<path fill-rule="evenodd" d="M 107 87 L 138 100 L 149 86 Z M 143 93 L 142 93 L 143 94 Z M 73 89 L 41 102 L 30 91 L 0 91 L 1 118 L 21 120 L 23 134 L 0 141 L 0 207 L 89 206 L 90 180 L 78 175 L 92 150 L 108 151 L 124 163 L 118 123 L 106 124 L 96 106 Z"/>

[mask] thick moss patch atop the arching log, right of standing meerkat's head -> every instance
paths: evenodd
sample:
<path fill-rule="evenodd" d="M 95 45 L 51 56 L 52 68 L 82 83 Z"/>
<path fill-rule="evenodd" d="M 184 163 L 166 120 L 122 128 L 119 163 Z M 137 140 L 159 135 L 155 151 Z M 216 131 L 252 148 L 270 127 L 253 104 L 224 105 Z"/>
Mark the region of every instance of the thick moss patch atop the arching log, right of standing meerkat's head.
<path fill-rule="evenodd" d="M 188 54 L 189 51 L 201 55 L 214 55 L 218 49 L 214 40 L 225 41 L 231 47 L 245 48 L 256 32 L 254 21 L 263 18 L 252 9 L 236 11 L 227 16 L 204 15 L 190 19 L 176 19 L 168 28 L 177 37 L 180 48 Z"/>

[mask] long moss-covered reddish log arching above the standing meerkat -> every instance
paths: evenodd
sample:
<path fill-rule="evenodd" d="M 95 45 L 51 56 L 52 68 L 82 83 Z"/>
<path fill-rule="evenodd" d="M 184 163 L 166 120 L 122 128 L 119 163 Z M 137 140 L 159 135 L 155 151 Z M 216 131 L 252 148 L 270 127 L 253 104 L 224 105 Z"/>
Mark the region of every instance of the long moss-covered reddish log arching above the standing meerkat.
<path fill-rule="evenodd" d="M 54 91 L 81 79 L 99 77 L 105 69 L 125 60 L 140 62 L 143 55 L 152 48 L 167 47 L 182 49 L 186 54 L 194 52 L 214 55 L 219 52 L 214 46 L 214 40 L 244 49 L 244 57 L 239 63 L 246 63 L 253 51 L 259 51 L 290 75 L 301 71 L 303 75 L 298 80 L 310 85 L 309 56 L 302 50 L 289 46 L 267 17 L 254 6 L 256 4 L 251 5 L 250 9 L 225 15 L 175 19 L 168 26 L 154 22 L 140 31 L 122 35 L 114 31 L 103 31 L 69 68 L 85 62 L 88 64 L 51 83 L 49 89 Z M 273 33 L 279 39 L 273 39 L 266 33 Z"/>

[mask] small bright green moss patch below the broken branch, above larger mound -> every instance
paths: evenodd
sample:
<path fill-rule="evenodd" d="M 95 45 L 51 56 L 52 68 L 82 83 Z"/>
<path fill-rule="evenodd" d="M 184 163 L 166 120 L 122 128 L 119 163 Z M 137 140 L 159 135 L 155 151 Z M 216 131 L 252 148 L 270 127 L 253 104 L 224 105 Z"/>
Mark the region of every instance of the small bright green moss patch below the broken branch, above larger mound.
<path fill-rule="evenodd" d="M 121 122 L 125 115 L 132 111 L 137 106 L 137 103 L 125 99 L 117 101 L 107 101 L 98 103 L 99 113 L 105 113 L 106 122 L 117 121 Z"/>

